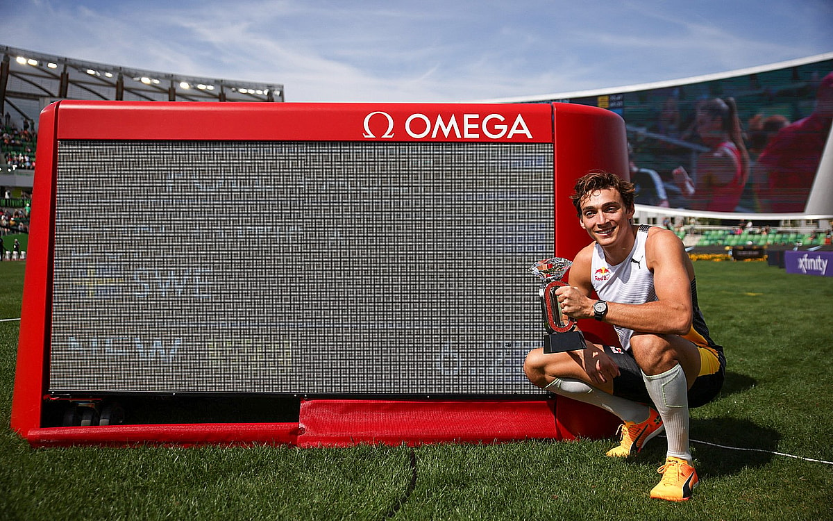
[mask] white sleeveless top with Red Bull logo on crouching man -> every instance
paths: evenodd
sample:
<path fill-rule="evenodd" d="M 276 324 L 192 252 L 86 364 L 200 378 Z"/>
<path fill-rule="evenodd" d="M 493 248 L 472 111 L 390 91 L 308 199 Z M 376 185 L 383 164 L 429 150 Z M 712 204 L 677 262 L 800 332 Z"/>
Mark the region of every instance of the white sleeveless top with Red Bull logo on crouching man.
<path fill-rule="evenodd" d="M 591 281 L 602 300 L 626 304 L 644 304 L 656 300 L 654 274 L 646 266 L 645 243 L 650 226 L 642 224 L 636 232 L 631 253 L 621 263 L 608 264 L 605 252 L 596 244 L 593 248 Z M 631 329 L 613 326 L 624 349 L 631 348 Z"/>

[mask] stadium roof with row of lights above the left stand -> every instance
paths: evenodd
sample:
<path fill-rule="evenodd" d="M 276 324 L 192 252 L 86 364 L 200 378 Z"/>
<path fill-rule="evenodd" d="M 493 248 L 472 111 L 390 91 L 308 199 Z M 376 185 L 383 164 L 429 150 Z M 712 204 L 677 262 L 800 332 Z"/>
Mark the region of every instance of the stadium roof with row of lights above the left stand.
<path fill-rule="evenodd" d="M 199 78 L 0 46 L 0 114 L 37 121 L 59 99 L 282 102 L 281 83 Z"/>

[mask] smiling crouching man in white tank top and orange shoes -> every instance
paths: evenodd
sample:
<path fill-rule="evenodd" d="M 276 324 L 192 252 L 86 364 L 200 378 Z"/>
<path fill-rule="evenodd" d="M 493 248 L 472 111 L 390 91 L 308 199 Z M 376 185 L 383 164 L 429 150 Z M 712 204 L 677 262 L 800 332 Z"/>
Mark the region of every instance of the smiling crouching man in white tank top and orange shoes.
<path fill-rule="evenodd" d="M 685 501 L 698 483 L 689 449 L 689 408 L 711 401 L 726 370 L 697 305 L 694 267 L 679 238 L 635 226 L 634 188 L 612 173 L 589 173 L 571 196 L 593 242 L 573 261 L 569 286 L 556 292 L 566 316 L 611 323 L 619 346 L 586 341 L 581 351 L 526 357 L 536 386 L 605 408 L 621 418 L 611 457 L 636 455 L 663 430 L 662 478 L 651 498 Z M 594 292 L 599 298 L 593 298 Z"/>

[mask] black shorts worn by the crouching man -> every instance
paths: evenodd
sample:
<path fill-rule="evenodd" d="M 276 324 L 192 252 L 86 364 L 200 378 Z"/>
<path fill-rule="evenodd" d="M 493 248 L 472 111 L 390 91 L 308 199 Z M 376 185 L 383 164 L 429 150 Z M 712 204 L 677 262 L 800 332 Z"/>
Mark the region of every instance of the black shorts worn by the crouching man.
<path fill-rule="evenodd" d="M 700 349 L 704 349 L 699 347 Z M 613 378 L 613 394 L 621 396 L 634 402 L 653 403 L 648 396 L 648 389 L 645 387 L 645 380 L 642 379 L 642 371 L 633 353 L 630 350 L 623 351 L 620 348 L 604 346 L 605 353 L 613 358 L 619 366 L 619 376 Z M 726 378 L 726 357 L 721 351 L 715 351 L 720 361 L 720 368 L 711 374 L 702 374 L 694 381 L 694 385 L 688 390 L 688 407 L 695 408 L 711 402 L 723 387 L 723 380 Z"/>

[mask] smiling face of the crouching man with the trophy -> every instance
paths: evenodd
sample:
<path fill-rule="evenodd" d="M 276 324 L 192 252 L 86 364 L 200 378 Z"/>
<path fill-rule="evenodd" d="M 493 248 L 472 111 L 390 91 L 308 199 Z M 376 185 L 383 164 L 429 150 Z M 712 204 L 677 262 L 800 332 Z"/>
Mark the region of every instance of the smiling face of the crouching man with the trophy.
<path fill-rule="evenodd" d="M 581 228 L 602 247 L 626 236 L 633 213 L 614 188 L 596 190 L 581 198 Z"/>

